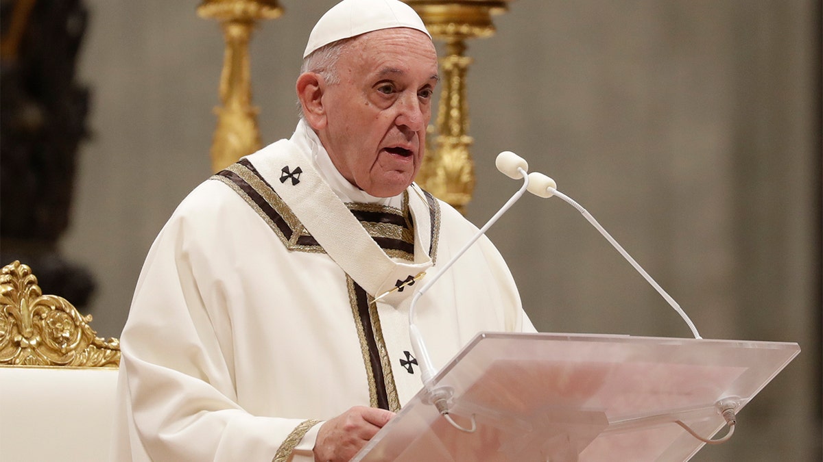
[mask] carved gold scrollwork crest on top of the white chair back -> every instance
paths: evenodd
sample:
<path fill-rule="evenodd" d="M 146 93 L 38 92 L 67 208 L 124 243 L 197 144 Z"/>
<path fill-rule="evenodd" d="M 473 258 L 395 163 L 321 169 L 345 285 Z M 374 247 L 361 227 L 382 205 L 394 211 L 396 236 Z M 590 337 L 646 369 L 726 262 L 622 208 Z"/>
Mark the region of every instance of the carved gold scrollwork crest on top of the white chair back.
<path fill-rule="evenodd" d="M 0 274 L 0 364 L 118 367 L 120 342 L 96 336 L 65 298 L 44 295 L 20 261 Z"/>

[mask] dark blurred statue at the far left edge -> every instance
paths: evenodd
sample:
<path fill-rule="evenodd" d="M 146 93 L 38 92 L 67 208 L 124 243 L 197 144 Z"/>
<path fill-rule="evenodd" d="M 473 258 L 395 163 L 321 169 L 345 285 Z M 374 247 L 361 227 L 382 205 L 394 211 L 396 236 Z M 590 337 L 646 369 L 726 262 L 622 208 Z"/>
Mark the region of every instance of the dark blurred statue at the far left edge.
<path fill-rule="evenodd" d="M 65 261 L 77 149 L 89 90 L 75 79 L 87 12 L 79 0 L 0 0 L 0 264 L 31 266 L 77 307 L 90 273 Z"/>

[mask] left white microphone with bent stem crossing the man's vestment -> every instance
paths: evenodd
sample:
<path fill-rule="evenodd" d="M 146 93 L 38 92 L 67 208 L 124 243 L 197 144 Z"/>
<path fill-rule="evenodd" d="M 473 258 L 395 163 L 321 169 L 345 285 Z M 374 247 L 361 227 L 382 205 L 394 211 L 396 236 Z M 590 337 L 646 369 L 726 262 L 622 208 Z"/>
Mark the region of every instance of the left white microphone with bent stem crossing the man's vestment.
<path fill-rule="evenodd" d="M 458 261 L 458 258 L 463 256 L 463 253 L 465 253 L 469 247 L 472 247 L 473 243 L 477 242 L 477 239 L 479 239 L 489 228 L 491 228 L 492 224 L 495 224 L 495 222 L 500 219 L 500 216 L 502 216 L 506 210 L 509 210 L 511 206 L 514 206 L 514 202 L 517 202 L 518 199 L 523 196 L 529 185 L 531 175 L 528 175 L 528 163 L 519 155 L 514 154 L 514 152 L 509 150 L 501 152 L 497 155 L 497 159 L 495 159 L 495 165 L 497 166 L 497 169 L 507 177 L 513 179 L 523 179 L 523 186 L 518 189 L 518 192 L 514 193 L 514 196 L 509 198 L 509 201 L 506 201 L 504 206 L 500 207 L 500 210 L 497 210 L 497 213 L 495 213 L 495 215 L 492 216 L 491 219 L 489 219 L 489 221 L 487 221 L 486 224 L 484 224 L 483 227 L 477 231 L 477 233 L 452 257 L 451 260 L 442 266 L 439 271 L 435 273 L 430 280 L 426 281 L 421 289 L 412 296 L 412 304 L 409 307 L 409 338 L 412 340 L 412 350 L 414 350 L 415 357 L 420 363 L 421 380 L 423 381 L 423 386 L 428 386 L 431 379 L 435 377 L 437 371 L 431 363 L 429 351 L 425 349 L 425 342 L 423 341 L 421 332 L 414 323 L 414 310 L 417 305 L 417 300 L 419 300 L 421 296 L 429 290 L 432 284 L 435 284 L 435 282 L 440 279 L 440 276 L 449 270 L 455 261 Z M 443 409 L 440 409 L 440 411 L 441 413 L 444 413 Z M 445 413 L 448 413 L 448 411 Z"/>

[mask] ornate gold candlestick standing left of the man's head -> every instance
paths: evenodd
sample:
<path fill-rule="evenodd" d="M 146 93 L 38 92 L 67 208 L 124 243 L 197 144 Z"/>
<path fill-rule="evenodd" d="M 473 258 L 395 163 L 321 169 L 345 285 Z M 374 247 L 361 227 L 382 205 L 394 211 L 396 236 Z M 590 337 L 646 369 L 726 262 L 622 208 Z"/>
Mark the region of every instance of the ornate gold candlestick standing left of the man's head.
<path fill-rule="evenodd" d="M 220 76 L 217 127 L 212 141 L 212 171 L 219 172 L 260 149 L 258 108 L 252 105 L 249 39 L 261 19 L 283 14 L 277 0 L 203 0 L 198 15 L 221 21 L 226 53 Z"/>

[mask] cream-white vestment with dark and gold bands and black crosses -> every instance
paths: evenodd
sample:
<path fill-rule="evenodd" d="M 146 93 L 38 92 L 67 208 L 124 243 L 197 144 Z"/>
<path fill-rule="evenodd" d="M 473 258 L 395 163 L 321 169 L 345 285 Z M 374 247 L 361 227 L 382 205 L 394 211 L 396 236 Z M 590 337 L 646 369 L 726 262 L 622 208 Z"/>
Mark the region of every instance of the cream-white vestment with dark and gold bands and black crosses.
<path fill-rule="evenodd" d="M 324 420 L 398 411 L 421 389 L 413 278 L 476 232 L 416 185 L 384 200 L 351 187 L 304 122 L 203 182 L 137 282 L 114 460 L 314 460 Z M 435 367 L 478 331 L 534 330 L 485 237 L 421 297 L 416 325 Z"/>

